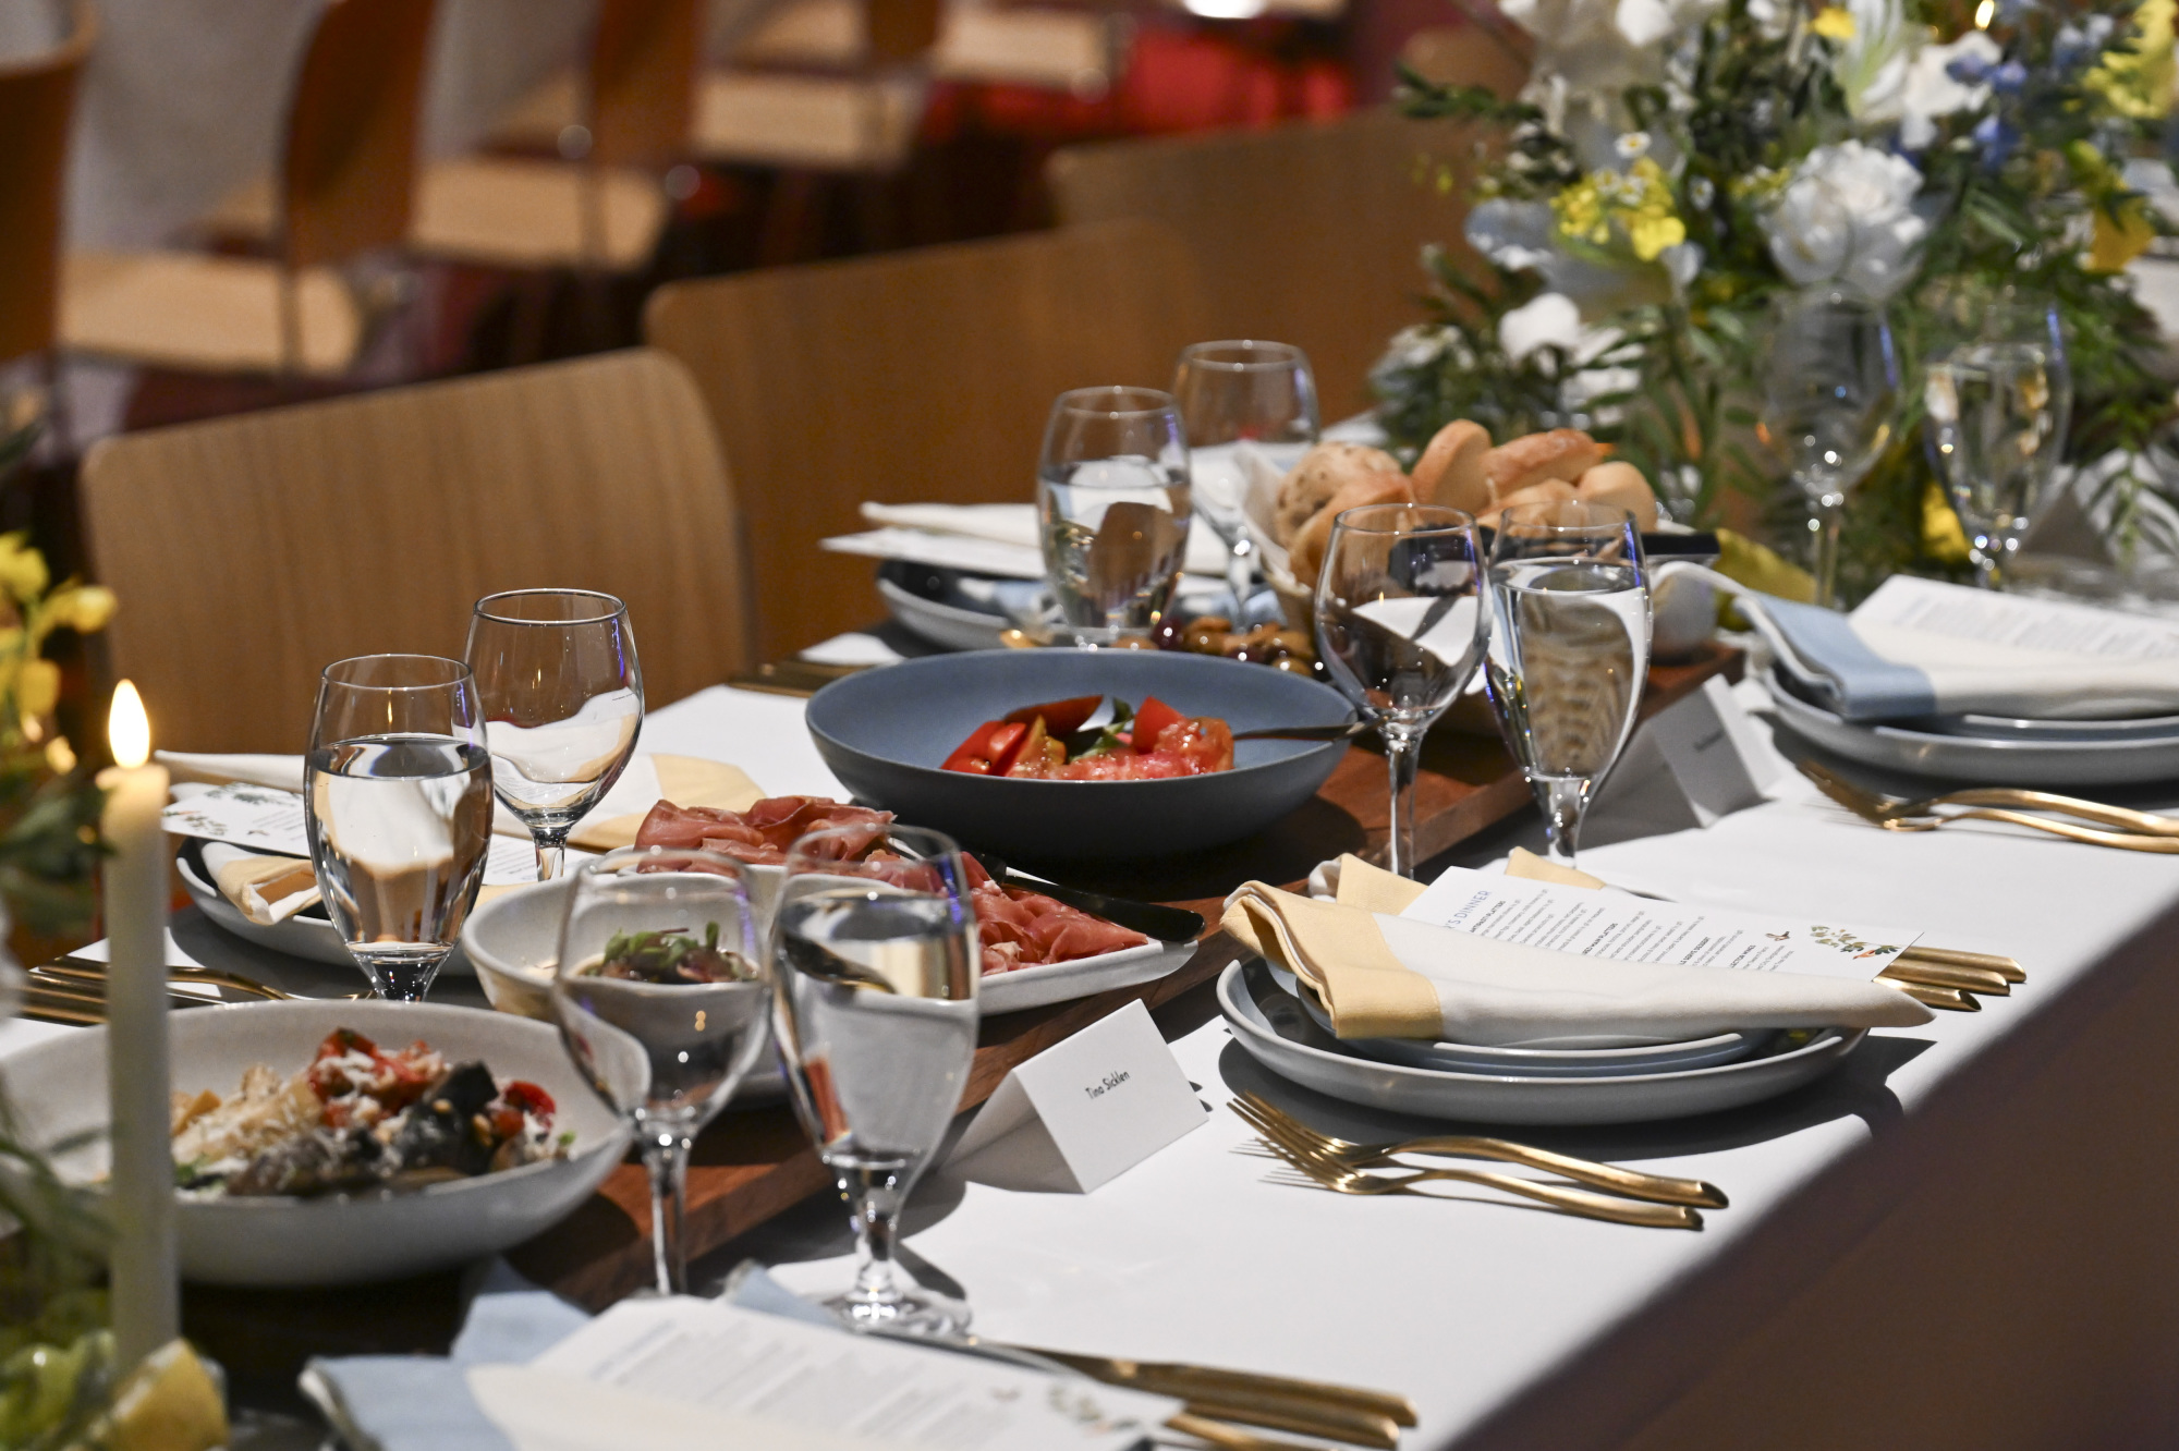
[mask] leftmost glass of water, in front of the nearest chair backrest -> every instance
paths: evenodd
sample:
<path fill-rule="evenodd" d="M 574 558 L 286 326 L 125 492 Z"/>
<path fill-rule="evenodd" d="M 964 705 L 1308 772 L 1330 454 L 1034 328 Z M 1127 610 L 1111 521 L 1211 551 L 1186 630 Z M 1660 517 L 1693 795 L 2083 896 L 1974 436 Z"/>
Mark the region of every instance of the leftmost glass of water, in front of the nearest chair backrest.
<path fill-rule="evenodd" d="M 475 678 L 438 656 L 327 664 L 307 765 L 325 911 L 377 996 L 416 1002 L 462 935 L 492 841 Z"/>

